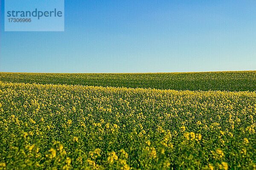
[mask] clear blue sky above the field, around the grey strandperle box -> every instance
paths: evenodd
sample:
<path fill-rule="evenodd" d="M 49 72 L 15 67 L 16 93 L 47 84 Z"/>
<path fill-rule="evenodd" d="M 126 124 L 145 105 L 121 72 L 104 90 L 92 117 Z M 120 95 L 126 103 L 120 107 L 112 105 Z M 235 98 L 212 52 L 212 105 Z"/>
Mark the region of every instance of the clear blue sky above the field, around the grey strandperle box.
<path fill-rule="evenodd" d="M 5 32 L 1 72 L 256 70 L 256 0 L 65 0 L 64 32 Z"/>

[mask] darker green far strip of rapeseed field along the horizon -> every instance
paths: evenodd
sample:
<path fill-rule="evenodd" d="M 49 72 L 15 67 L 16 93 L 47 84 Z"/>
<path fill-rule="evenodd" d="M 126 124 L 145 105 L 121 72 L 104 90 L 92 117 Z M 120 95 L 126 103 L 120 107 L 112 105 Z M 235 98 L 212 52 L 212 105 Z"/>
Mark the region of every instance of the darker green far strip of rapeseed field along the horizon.
<path fill-rule="evenodd" d="M 256 71 L 145 74 L 0 73 L 0 81 L 190 91 L 255 91 Z"/>

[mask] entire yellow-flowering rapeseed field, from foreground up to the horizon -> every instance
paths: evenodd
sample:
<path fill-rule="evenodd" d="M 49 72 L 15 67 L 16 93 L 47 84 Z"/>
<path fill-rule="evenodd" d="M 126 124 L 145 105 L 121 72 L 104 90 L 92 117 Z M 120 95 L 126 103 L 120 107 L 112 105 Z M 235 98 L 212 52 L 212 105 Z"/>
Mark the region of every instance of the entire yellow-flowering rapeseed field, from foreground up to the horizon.
<path fill-rule="evenodd" d="M 0 73 L 0 170 L 256 170 L 255 76 Z"/>

